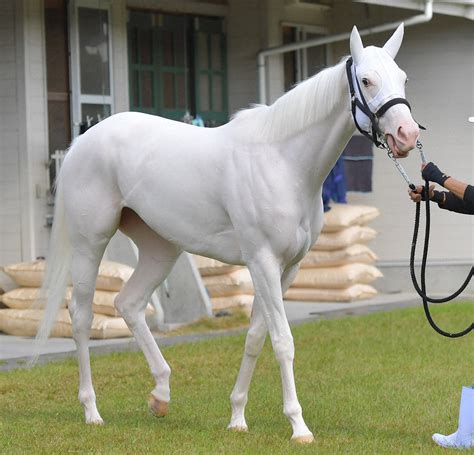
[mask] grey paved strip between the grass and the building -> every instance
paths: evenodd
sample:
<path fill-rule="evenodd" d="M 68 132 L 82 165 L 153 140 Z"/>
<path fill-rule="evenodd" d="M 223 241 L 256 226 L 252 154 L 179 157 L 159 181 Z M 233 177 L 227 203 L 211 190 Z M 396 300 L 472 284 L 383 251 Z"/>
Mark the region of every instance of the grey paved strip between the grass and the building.
<path fill-rule="evenodd" d="M 298 324 L 318 318 L 335 318 L 354 314 L 367 314 L 375 311 L 388 311 L 419 304 L 415 294 L 379 295 L 371 300 L 352 303 L 309 303 L 285 302 L 285 309 L 291 324 Z M 199 335 L 182 335 L 174 337 L 158 337 L 161 346 L 175 343 L 191 342 L 214 336 L 231 335 L 244 331 L 230 330 L 226 333 L 209 333 Z M 22 367 L 33 352 L 32 338 L 14 337 L 0 334 L 0 370 Z M 138 347 L 133 338 L 111 340 L 91 340 L 91 351 L 108 353 L 116 351 L 136 351 Z M 74 341 L 66 338 L 51 338 L 41 351 L 40 363 L 70 357 L 75 354 Z"/>

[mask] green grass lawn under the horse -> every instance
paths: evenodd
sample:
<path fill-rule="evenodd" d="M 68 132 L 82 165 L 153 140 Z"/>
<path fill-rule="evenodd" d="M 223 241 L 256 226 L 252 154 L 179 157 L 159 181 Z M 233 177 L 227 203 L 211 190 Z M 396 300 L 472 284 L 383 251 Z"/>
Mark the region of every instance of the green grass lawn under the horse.
<path fill-rule="evenodd" d="M 445 328 L 460 329 L 474 303 L 435 310 Z M 0 372 L 0 453 L 446 453 L 431 434 L 457 427 L 461 386 L 474 382 L 474 335 L 440 337 L 421 308 L 312 322 L 293 333 L 311 446 L 289 441 L 269 343 L 250 391 L 249 432 L 226 431 L 239 335 L 163 349 L 172 368 L 164 419 L 147 411 L 153 383 L 141 354 L 92 358 L 103 427 L 83 423 L 75 361 Z"/>

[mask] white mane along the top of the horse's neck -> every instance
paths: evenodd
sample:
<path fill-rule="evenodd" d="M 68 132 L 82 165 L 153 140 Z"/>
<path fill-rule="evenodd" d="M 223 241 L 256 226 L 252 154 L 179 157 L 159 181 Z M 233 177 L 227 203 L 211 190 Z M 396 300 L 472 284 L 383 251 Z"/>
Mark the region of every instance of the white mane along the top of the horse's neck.
<path fill-rule="evenodd" d="M 257 104 L 232 118 L 255 142 L 276 142 L 326 118 L 338 101 L 344 62 L 300 82 L 270 106 Z"/>

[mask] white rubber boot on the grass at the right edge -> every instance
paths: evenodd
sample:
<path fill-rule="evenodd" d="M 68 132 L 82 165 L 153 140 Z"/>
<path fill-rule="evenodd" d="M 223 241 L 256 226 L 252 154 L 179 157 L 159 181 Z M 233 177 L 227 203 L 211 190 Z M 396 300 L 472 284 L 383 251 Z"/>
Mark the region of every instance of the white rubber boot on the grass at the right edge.
<path fill-rule="evenodd" d="M 435 433 L 433 441 L 446 448 L 474 448 L 474 388 L 462 388 L 458 431 L 449 436 Z"/>

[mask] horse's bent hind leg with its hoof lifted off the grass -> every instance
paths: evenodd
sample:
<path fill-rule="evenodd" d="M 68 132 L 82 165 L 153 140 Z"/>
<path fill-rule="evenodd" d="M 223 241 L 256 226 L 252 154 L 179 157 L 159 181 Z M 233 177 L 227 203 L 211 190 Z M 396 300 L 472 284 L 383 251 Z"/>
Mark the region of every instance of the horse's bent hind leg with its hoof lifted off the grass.
<path fill-rule="evenodd" d="M 145 308 L 155 289 L 168 276 L 181 251 L 152 231 L 132 210 L 124 209 L 120 230 L 137 245 L 137 267 L 115 299 L 115 306 L 125 319 L 140 346 L 155 379 L 150 410 L 157 417 L 166 415 L 170 401 L 170 367 L 166 363 L 145 321 Z"/>

